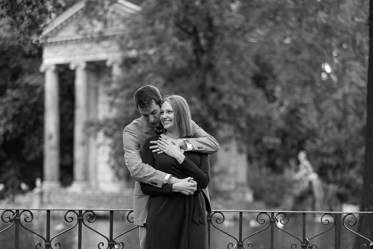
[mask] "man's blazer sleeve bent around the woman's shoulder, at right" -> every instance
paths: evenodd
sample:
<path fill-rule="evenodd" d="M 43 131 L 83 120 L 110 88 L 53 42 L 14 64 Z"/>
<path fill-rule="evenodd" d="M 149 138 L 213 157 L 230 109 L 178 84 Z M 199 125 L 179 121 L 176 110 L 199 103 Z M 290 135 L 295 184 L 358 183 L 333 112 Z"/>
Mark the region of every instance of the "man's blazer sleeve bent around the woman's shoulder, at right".
<path fill-rule="evenodd" d="M 192 121 L 192 127 L 193 137 L 188 138 L 188 140 L 195 152 L 211 155 L 219 151 L 219 143 L 213 136 L 210 136 L 210 134 L 199 127 L 194 121 Z"/>

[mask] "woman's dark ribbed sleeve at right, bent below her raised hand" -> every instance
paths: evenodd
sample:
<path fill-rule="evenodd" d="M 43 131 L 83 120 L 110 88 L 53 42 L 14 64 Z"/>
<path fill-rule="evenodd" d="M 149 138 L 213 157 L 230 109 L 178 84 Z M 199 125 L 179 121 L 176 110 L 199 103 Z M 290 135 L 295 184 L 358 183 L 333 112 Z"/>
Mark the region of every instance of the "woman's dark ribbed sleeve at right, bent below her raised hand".
<path fill-rule="evenodd" d="M 198 153 L 198 155 L 200 156 L 199 167 L 186 157 L 180 164 L 180 167 L 186 172 L 187 175 L 193 177 L 193 180 L 196 181 L 202 189 L 206 189 L 210 182 L 209 156 L 205 153 Z"/>

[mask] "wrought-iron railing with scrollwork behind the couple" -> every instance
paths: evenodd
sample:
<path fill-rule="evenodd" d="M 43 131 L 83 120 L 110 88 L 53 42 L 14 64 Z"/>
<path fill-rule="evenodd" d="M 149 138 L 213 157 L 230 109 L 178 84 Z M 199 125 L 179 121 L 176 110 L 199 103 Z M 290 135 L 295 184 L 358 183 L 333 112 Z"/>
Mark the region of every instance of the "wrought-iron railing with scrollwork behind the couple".
<path fill-rule="evenodd" d="M 4 238 L 9 239 L 9 233 L 14 236 L 14 248 L 22 249 L 19 242 L 23 240 L 24 234 L 37 237 L 37 243 L 27 245 L 35 249 L 64 249 L 63 243 L 58 242 L 63 234 L 77 240 L 74 248 L 87 248 L 82 242 L 82 234 L 85 230 L 90 230 L 100 238 L 97 243 L 98 249 L 125 249 L 128 247 L 129 232 L 136 229 L 133 223 L 133 211 L 131 209 L 0 209 L 0 247 L 3 248 Z M 125 214 L 121 219 L 115 218 L 115 213 Z M 59 215 L 58 215 L 59 214 Z M 373 213 L 367 212 L 285 212 L 285 211 L 238 211 L 238 210 L 214 210 L 207 214 L 209 248 L 290 248 L 295 249 L 317 249 L 318 239 L 326 237 L 326 240 L 333 242 L 333 246 L 322 246 L 321 248 L 350 248 L 353 239 L 346 243 L 346 237 L 353 238 L 360 236 L 366 241 L 360 248 L 373 248 L 372 238 L 366 238 L 356 232 L 358 219 L 362 214 L 369 214 L 370 222 L 373 222 Z M 36 215 L 36 216 L 35 216 Z M 102 218 L 108 221 L 108 230 L 105 234 L 99 232 L 92 224 Z M 45 220 L 43 220 L 45 219 Z M 316 220 L 315 220 L 316 219 Z M 32 222 L 43 220 L 45 226 L 41 230 L 31 229 Z M 51 220 L 63 222 L 63 231 L 52 235 Z M 126 222 L 129 228 L 117 231 L 114 229 L 116 222 Z M 316 224 L 315 224 L 316 223 Z M 132 224 L 132 225 L 131 225 Z M 232 225 L 233 224 L 233 225 Z M 309 225 L 317 229 L 308 229 Z M 289 229 L 291 228 L 291 229 Z M 306 228 L 308 230 L 306 230 Z M 353 229 L 354 228 L 354 229 Z M 117 233 L 117 234 L 114 234 Z M 22 235 L 21 235 L 22 234 Z M 131 233 L 131 237 L 137 236 L 137 231 Z M 254 239 L 260 235 L 261 239 Z M 23 236 L 23 237 L 22 237 Z M 225 236 L 223 243 L 211 246 L 211 243 Z M 286 240 L 284 238 L 287 238 Z M 264 239 L 263 239 L 264 238 Z M 325 240 L 325 239 L 324 239 Z M 279 245 L 285 243 L 285 245 Z M 350 244 L 348 244 L 350 243 Z M 265 244 L 265 246 L 263 246 Z M 341 246 L 342 245 L 342 246 Z M 7 247 L 9 248 L 9 247 Z"/>

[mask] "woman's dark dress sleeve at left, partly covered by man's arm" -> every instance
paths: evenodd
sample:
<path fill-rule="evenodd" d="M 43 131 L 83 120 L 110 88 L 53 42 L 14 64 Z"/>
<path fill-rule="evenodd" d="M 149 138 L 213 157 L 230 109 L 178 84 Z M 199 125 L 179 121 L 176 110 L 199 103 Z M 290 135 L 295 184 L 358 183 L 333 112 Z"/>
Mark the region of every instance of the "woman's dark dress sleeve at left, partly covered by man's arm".
<path fill-rule="evenodd" d="M 150 141 L 156 141 L 158 137 L 149 137 L 145 140 L 144 144 L 150 144 Z M 154 168 L 155 158 L 154 153 L 149 149 L 149 146 L 144 146 L 141 151 L 142 162 L 148 164 Z M 159 195 L 171 195 L 173 184 L 164 184 L 162 187 L 156 187 L 146 183 L 140 183 L 142 193 L 150 196 L 159 196 Z"/>

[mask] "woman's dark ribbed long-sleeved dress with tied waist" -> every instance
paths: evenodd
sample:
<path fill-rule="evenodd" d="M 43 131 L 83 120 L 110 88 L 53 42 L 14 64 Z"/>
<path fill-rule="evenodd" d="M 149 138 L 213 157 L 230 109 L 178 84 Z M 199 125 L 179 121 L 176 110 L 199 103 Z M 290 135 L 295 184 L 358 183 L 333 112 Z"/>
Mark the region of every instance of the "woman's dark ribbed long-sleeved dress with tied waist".
<path fill-rule="evenodd" d="M 198 190 L 193 195 L 172 194 L 169 186 L 162 188 L 141 184 L 144 194 L 150 195 L 148 216 L 146 219 L 147 249 L 207 249 L 206 204 L 201 188 L 210 181 L 208 155 L 197 152 L 184 152 L 182 164 L 165 153 L 151 152 L 149 141 L 159 137 L 150 137 L 141 151 L 142 162 L 153 166 L 174 177 L 183 179 L 193 177 Z M 167 190 L 168 189 L 168 190 Z M 198 192 L 198 193 L 197 193 Z"/>

